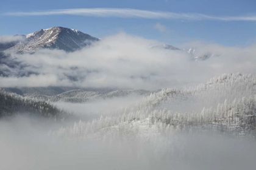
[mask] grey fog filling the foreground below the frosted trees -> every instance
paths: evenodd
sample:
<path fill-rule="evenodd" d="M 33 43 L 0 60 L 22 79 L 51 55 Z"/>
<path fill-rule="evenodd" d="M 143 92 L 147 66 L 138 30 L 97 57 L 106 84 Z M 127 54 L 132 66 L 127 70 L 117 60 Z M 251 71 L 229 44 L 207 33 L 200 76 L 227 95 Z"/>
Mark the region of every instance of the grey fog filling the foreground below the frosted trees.
<path fill-rule="evenodd" d="M 154 141 L 68 141 L 51 121 L 0 121 L 0 169 L 253 169 L 255 141 L 218 134 L 172 134 Z"/>

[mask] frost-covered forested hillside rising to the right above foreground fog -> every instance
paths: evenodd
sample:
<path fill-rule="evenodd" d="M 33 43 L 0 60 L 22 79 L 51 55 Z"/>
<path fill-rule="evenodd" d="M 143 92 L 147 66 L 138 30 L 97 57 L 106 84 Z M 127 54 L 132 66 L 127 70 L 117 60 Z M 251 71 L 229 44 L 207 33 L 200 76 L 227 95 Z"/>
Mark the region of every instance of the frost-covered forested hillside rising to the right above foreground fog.
<path fill-rule="evenodd" d="M 102 116 L 91 122 L 79 121 L 74 126 L 61 127 L 52 134 L 83 140 L 106 141 L 113 140 L 113 137 L 121 137 L 121 140 L 148 140 L 152 135 L 191 132 L 196 129 L 255 137 L 255 83 L 255 75 L 236 73 L 223 74 L 212 78 L 206 84 L 183 90 L 162 89 L 136 104 L 116 110 L 116 114 Z M 210 106 L 202 103 L 199 110 L 175 108 L 177 105 L 180 108 L 187 107 L 188 103 L 196 104 L 197 107 L 198 101 L 208 102 Z M 168 105 L 171 107 L 165 107 Z"/>

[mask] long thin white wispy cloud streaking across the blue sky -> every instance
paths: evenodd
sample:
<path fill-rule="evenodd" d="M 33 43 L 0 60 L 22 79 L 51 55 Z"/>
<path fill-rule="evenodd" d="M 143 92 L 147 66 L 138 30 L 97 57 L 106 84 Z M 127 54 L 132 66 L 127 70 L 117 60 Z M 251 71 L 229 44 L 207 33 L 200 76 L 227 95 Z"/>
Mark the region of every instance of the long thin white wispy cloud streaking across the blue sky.
<path fill-rule="evenodd" d="M 145 19 L 186 19 L 186 20 L 216 20 L 216 21 L 256 21 L 256 15 L 244 16 L 211 16 L 200 13 L 173 13 L 153 10 L 137 9 L 60 9 L 34 12 L 9 12 L 11 16 L 45 16 L 45 15 L 78 15 L 117 18 L 145 18 Z"/>

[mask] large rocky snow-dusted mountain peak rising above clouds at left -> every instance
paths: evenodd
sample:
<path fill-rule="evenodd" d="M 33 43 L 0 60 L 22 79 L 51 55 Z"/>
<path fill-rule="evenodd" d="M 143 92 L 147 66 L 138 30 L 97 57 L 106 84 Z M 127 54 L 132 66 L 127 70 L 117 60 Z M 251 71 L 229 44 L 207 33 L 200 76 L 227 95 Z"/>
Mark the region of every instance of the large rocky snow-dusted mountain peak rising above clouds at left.
<path fill-rule="evenodd" d="M 88 46 L 98 38 L 82 33 L 79 30 L 64 27 L 41 29 L 24 36 L 24 41 L 0 44 L 2 50 L 14 50 L 19 53 L 34 52 L 37 49 L 59 49 L 73 52 Z"/>

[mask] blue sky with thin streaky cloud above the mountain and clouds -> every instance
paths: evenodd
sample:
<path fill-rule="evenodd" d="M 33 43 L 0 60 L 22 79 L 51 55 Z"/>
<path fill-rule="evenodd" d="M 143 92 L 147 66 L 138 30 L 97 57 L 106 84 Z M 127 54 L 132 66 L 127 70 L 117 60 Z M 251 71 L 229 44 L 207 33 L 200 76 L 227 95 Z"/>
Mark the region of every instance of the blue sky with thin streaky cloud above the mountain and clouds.
<path fill-rule="evenodd" d="M 249 46 L 256 42 L 256 1 L 9 0 L 1 2 L 0 25 L 0 35 L 62 26 L 99 38 L 123 31 L 172 45 L 204 41 Z"/>

